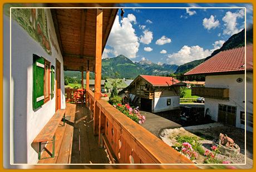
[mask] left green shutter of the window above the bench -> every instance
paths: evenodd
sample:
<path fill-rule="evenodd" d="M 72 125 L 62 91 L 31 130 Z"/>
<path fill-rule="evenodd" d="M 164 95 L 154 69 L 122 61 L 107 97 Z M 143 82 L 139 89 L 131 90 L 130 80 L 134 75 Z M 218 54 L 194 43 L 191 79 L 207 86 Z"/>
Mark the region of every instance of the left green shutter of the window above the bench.
<path fill-rule="evenodd" d="M 33 110 L 43 105 L 45 77 L 45 59 L 33 54 Z"/>

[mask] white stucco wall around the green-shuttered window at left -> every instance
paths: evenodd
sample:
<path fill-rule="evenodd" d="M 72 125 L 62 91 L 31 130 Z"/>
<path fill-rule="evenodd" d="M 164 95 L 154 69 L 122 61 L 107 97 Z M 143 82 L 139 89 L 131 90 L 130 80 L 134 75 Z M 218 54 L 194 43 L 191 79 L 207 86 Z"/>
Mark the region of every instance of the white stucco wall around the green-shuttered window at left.
<path fill-rule="evenodd" d="M 4 24 L 9 24 L 4 20 Z M 47 9 L 47 24 L 51 32 L 53 42 L 57 45 L 58 53 L 51 43 L 52 54 L 49 55 L 35 39 L 19 24 L 12 20 L 12 90 L 13 97 L 13 139 L 14 139 L 14 163 L 37 163 L 37 153 L 31 143 L 45 124 L 55 114 L 55 97 L 50 99 L 41 108 L 33 111 L 33 54 L 42 56 L 51 65 L 55 65 L 56 59 L 61 63 L 61 108 L 65 108 L 65 87 L 63 73 L 63 59 L 55 34 L 50 9 Z M 48 31 L 49 33 L 49 31 Z M 49 36 L 50 38 L 50 36 Z"/>

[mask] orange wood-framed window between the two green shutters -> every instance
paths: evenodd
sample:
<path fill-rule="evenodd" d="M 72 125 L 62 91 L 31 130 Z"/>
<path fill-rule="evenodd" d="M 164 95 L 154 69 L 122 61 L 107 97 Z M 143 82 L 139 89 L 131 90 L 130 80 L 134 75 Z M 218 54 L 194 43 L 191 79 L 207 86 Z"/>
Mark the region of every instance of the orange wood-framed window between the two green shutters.
<path fill-rule="evenodd" d="M 44 103 L 50 100 L 50 62 L 45 60 L 45 77 L 44 77 L 44 86 L 43 93 L 45 95 Z"/>

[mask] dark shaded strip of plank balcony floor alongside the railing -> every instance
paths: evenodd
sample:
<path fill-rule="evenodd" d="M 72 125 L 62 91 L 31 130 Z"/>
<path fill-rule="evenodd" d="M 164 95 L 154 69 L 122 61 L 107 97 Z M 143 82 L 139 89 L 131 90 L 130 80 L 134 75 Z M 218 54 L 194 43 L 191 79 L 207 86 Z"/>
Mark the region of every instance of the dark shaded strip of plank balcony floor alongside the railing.
<path fill-rule="evenodd" d="M 77 103 L 75 113 L 71 164 L 109 164 L 104 148 L 98 145 L 98 136 L 93 135 L 90 111 Z"/>

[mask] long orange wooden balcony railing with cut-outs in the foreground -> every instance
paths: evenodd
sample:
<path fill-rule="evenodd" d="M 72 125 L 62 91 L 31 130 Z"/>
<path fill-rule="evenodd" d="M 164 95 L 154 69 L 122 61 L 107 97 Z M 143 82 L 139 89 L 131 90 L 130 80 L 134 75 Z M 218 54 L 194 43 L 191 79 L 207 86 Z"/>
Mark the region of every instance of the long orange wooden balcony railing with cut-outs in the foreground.
<path fill-rule="evenodd" d="M 184 155 L 165 144 L 141 125 L 112 107 L 105 100 L 93 102 L 87 92 L 89 107 L 95 104 L 95 128 L 99 133 L 99 146 L 104 146 L 112 163 L 120 164 L 190 164 L 176 168 L 196 168 Z M 93 109 L 90 107 L 91 113 Z"/>

